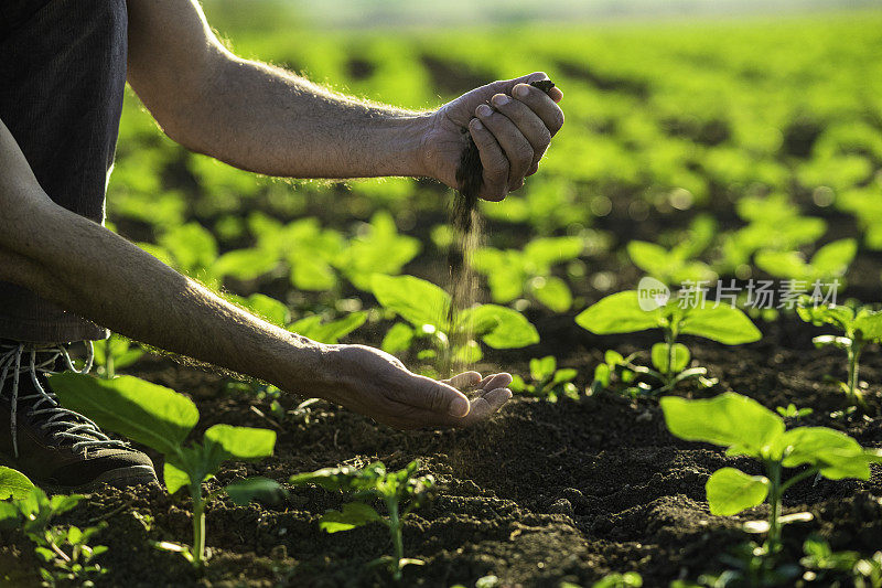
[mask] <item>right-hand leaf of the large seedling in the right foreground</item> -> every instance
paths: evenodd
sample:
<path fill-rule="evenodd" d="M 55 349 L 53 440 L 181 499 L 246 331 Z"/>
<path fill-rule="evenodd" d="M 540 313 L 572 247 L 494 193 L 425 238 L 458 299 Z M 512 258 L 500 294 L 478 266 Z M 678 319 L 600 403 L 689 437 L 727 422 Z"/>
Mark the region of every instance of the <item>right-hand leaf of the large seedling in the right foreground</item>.
<path fill-rule="evenodd" d="M 785 468 L 810 464 L 830 480 L 868 480 L 870 468 L 860 459 L 863 448 L 848 435 L 827 427 L 797 427 L 785 432 L 777 443 Z"/>

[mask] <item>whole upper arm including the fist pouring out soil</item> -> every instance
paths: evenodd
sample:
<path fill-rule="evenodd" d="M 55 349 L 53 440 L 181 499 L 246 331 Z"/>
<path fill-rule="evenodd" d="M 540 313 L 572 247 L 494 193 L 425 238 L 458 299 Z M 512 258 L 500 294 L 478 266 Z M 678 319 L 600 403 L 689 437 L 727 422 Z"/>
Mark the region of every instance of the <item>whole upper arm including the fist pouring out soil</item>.
<path fill-rule="evenodd" d="M 535 173 L 563 124 L 560 90 L 551 99 L 526 85 L 542 77 L 495 82 L 438 111 L 408 113 L 235 56 L 195 0 L 129 0 L 129 82 L 163 130 L 269 175 L 424 175 L 453 186 L 469 129 L 485 168 L 482 196 L 499 200 Z M 494 108 L 478 109 L 485 103 Z"/>

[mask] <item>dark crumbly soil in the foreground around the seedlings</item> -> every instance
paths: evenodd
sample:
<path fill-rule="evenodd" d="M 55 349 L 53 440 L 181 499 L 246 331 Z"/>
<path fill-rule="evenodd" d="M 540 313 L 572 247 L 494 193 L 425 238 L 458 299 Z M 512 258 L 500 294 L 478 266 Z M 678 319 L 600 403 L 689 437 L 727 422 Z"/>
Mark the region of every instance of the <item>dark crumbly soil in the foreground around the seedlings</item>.
<path fill-rule="evenodd" d="M 538 327 L 546 352 L 581 368 L 581 385 L 589 383 L 602 350 L 619 343 L 560 318 L 539 321 Z M 713 389 L 695 394 L 734 389 L 770 407 L 793 402 L 815 409 L 800 424 L 832 426 L 867 446 L 880 445 L 878 418 L 830 417 L 846 407 L 833 385 L 822 379 L 825 374 L 842 376 L 839 353 L 814 349 L 810 338 L 816 330 L 792 318 L 764 329 L 761 342 L 738 350 L 693 344 L 695 361 L 720 379 Z M 630 348 L 646 349 L 635 338 L 617 346 Z M 529 355 L 529 350 L 524 352 L 524 357 Z M 524 371 L 526 365 L 513 367 Z M 215 423 L 272 426 L 252 409 L 268 413 L 268 400 L 225 396 L 219 392 L 224 378 L 216 374 L 168 359 L 142 361 L 132 372 L 190 394 L 202 414 L 197 432 Z M 867 353 L 862 378 L 879 382 L 880 376 L 882 357 Z M 870 388 L 868 399 L 871 415 L 879 415 L 879 388 Z M 293 406 L 294 400 L 284 403 Z M 673 579 L 721 569 L 719 555 L 747 537 L 740 523 L 765 514 L 760 507 L 734 517 L 711 516 L 704 502 L 710 473 L 722 466 L 756 472 L 755 464 L 727 458 L 710 446 L 677 440 L 666 431 L 655 400 L 611 393 L 557 404 L 515 398 L 492 421 L 472 429 L 416 432 L 398 432 L 320 403 L 309 423 L 284 423 L 273 458 L 229 464 L 209 487 L 251 474 L 284 481 L 295 472 L 376 459 L 400 468 L 415 458 L 439 480 L 441 491 L 406 524 L 406 555 L 423 559 L 426 566 L 407 568 L 404 586 L 471 587 L 485 575 L 497 576 L 505 586 L 557 586 L 564 579 L 590 586 L 607 573 L 625 570 L 639 571 L 645 586 L 667 586 Z M 109 571 L 99 586 L 390 585 L 364 567 L 389 552 L 385 527 L 335 535 L 319 531 L 319 516 L 342 500 L 318 488 L 292 488 L 279 505 L 215 502 L 207 513 L 213 555 L 204 576 L 180 556 L 149 545 L 162 539 L 186 543 L 191 532 L 183 498 L 168 496 L 159 487 L 108 488 L 60 522 L 109 522 L 100 535 L 110 546 L 100 557 Z M 882 545 L 879 471 L 868 482 L 803 482 L 786 496 L 786 512 L 802 510 L 811 512 L 815 521 L 785 528 L 792 557 L 799 556 L 810 533 L 819 533 L 836 549 L 869 554 Z M 152 520 L 149 525 L 146 517 Z M 25 539 L 10 532 L 0 539 L 0 569 L 33 569 Z M 15 582 L 36 585 L 26 575 Z"/>

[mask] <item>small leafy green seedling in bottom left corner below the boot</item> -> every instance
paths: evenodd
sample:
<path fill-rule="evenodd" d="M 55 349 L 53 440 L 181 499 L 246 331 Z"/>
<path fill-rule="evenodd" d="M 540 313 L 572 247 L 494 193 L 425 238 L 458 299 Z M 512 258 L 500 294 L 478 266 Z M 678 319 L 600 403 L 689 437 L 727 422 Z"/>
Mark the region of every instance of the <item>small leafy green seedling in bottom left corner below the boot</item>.
<path fill-rule="evenodd" d="M 0 468 L 0 525 L 18 527 L 33 543 L 34 555 L 43 562 L 43 586 L 75 584 L 94 586 L 93 579 L 106 570 L 93 559 L 107 550 L 90 546 L 89 539 L 107 523 L 79 528 L 51 525 L 51 521 L 76 506 L 79 494 L 46 496 L 22 473 Z"/>

